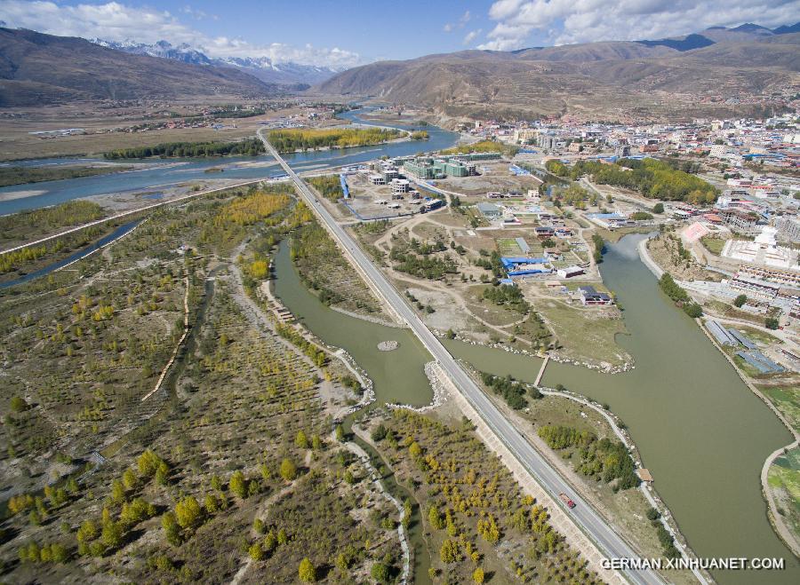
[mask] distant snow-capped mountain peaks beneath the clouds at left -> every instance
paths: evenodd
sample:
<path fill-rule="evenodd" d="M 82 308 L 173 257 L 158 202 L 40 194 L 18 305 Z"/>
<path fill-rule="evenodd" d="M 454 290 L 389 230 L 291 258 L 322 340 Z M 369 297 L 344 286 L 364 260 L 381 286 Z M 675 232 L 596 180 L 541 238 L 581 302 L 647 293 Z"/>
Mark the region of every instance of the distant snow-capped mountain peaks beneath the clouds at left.
<path fill-rule="evenodd" d="M 137 55 L 149 55 L 161 59 L 175 59 L 193 65 L 207 65 L 209 67 L 236 67 L 268 83 L 321 83 L 339 73 L 342 69 L 319 67 L 315 65 L 301 65 L 300 63 L 277 63 L 268 57 L 228 57 L 225 59 L 211 59 L 203 51 L 198 51 L 187 43 L 173 46 L 167 41 L 146 44 L 126 40 L 123 42 L 91 39 L 92 43 L 125 51 Z"/>

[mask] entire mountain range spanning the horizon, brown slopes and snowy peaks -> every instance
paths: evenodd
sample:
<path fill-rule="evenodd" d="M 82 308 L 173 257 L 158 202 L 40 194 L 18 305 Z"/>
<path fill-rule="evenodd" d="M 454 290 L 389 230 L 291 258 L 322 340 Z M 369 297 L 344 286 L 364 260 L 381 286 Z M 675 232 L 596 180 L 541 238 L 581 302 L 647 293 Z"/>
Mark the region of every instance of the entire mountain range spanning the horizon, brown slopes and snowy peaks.
<path fill-rule="evenodd" d="M 0 28 L 0 107 L 263 98 L 316 83 L 309 95 L 427 107 L 440 123 L 470 116 L 764 115 L 800 96 L 798 45 L 800 23 L 745 24 L 659 40 L 458 51 L 334 72 L 266 57 L 212 59 L 166 41 L 90 42 Z"/>

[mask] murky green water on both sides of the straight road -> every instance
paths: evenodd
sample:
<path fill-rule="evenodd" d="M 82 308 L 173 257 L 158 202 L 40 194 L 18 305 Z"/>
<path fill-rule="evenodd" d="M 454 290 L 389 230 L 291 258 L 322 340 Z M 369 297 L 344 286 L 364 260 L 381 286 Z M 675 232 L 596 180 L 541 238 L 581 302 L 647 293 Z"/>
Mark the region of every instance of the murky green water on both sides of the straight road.
<path fill-rule="evenodd" d="M 542 381 L 562 383 L 606 402 L 628 424 L 655 487 L 700 557 L 783 557 L 787 569 L 714 573 L 722 583 L 796 583 L 800 566 L 766 517 L 759 474 L 764 459 L 791 436 L 742 383 L 697 326 L 660 293 L 636 256 L 644 235 L 609 246 L 605 284 L 625 307 L 630 336 L 619 339 L 636 368 L 604 375 L 551 361 Z M 327 343 L 344 347 L 375 382 L 379 402 L 430 399 L 422 365 L 428 352 L 404 330 L 386 328 L 324 307 L 301 285 L 288 250 L 276 257 L 276 293 Z M 378 352 L 385 339 L 396 352 Z M 476 368 L 532 382 L 540 360 L 460 342 L 445 342 Z"/>

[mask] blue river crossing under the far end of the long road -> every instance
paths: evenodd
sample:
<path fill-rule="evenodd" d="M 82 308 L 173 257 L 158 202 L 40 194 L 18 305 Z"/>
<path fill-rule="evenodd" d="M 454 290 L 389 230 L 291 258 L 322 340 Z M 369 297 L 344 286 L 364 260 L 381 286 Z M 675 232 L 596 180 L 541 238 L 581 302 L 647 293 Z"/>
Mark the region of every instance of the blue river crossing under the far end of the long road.
<path fill-rule="evenodd" d="M 365 108 L 367 109 L 367 108 Z M 372 124 L 361 120 L 358 113 L 362 110 L 352 110 L 340 114 L 340 118 L 355 123 Z M 397 124 L 405 130 L 427 130 L 428 140 L 393 142 L 377 146 L 357 146 L 334 150 L 310 151 L 307 153 L 286 154 L 284 158 L 292 169 L 297 171 L 316 170 L 325 167 L 356 164 L 358 162 L 372 161 L 383 154 L 388 156 L 402 156 L 416 154 L 421 150 L 432 151 L 447 148 L 455 144 L 459 135 L 455 132 L 442 130 L 436 126 L 415 126 L 410 124 Z M 41 159 L 26 161 L 25 166 L 50 166 L 70 164 L 87 164 L 92 159 Z M 96 162 L 96 161 L 94 161 Z M 210 183 L 214 179 L 248 179 L 276 177 L 284 174 L 271 156 L 225 156 L 212 158 L 172 158 L 152 159 L 141 161 L 116 161 L 124 166 L 133 165 L 134 169 L 94 177 L 68 178 L 60 181 L 44 181 L 28 185 L 12 185 L 0 187 L 0 216 L 15 213 L 24 209 L 38 209 L 48 205 L 56 205 L 77 199 L 103 194 L 135 194 L 150 192 L 153 189 L 164 189 L 169 186 L 180 185 L 186 181 L 206 180 Z M 18 163 L 7 163 L 18 165 Z M 20 163 L 23 164 L 23 163 Z M 208 169 L 224 169 L 222 173 L 207 173 Z M 36 194 L 18 197 L 14 194 L 20 192 L 34 192 Z M 16 197 L 16 198 L 11 198 Z M 4 201 L 5 199 L 5 201 Z"/>

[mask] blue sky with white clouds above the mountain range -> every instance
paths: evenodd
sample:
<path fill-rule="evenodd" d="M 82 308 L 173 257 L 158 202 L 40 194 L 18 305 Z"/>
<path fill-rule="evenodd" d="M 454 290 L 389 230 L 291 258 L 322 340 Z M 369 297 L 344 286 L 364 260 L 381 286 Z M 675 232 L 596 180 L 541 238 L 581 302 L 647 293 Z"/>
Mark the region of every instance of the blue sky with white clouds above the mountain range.
<path fill-rule="evenodd" d="M 5 27 L 334 68 L 798 20 L 800 0 L 0 0 Z"/>

